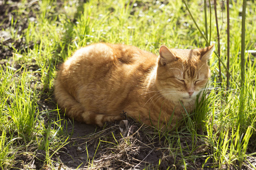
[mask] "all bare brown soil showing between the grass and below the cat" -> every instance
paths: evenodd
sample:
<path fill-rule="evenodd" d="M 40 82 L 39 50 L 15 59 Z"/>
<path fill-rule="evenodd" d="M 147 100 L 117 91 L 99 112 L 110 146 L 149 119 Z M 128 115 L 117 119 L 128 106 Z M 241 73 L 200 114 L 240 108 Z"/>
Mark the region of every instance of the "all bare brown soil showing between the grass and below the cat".
<path fill-rule="evenodd" d="M 22 35 L 22 30 L 27 28 L 27 20 L 35 20 L 35 14 L 32 10 L 29 14 L 15 15 L 18 9 L 19 1 L 6 3 L 0 0 L 0 20 L 3 22 L 0 29 L 0 62 L 5 65 L 7 59 L 13 56 L 13 48 L 26 51 L 34 46 L 34 42 L 29 45 L 25 44 L 24 39 L 14 40 L 8 32 L 2 31 L 9 29 L 11 18 L 18 20 L 15 25 L 15 31 Z M 9 1 L 10 2 L 10 1 Z M 28 7 L 38 9 L 38 3 L 28 3 Z M 38 42 L 40 43 L 40 42 Z M 9 60 L 10 62 L 11 60 Z M 15 66 L 19 68 L 19 65 Z M 36 65 L 28 65 L 32 70 Z M 38 101 L 40 110 L 56 109 L 56 103 L 51 91 L 46 92 L 45 96 Z M 57 117 L 52 113 L 52 118 Z M 81 124 L 80 122 L 64 119 L 63 126 L 66 127 L 65 133 L 69 135 L 67 144 L 53 155 L 53 165 L 56 169 L 184 169 L 183 160 L 179 155 L 171 153 L 168 149 L 168 142 L 163 134 L 158 133 L 153 128 L 137 124 L 133 120 L 116 122 L 115 124 L 106 125 L 104 128 Z M 192 147 L 191 138 L 181 137 L 181 147 Z M 177 142 L 177 141 L 176 141 Z M 193 153 L 199 157 L 195 160 L 186 162 L 187 169 L 215 169 L 216 165 L 213 160 L 208 159 L 207 155 L 212 154 L 205 141 L 197 141 L 198 149 Z M 175 144 L 174 144 L 175 146 Z M 177 148 L 179 149 L 179 148 Z M 22 151 L 21 151 L 22 152 Z M 51 151 L 52 153 L 55 151 Z M 13 169 L 24 169 L 30 165 L 32 169 L 50 169 L 44 166 L 45 151 L 34 149 L 35 155 L 20 154 L 16 158 Z M 182 152 L 183 156 L 191 152 Z M 55 161 L 55 162 L 54 162 Z M 248 158 L 248 161 L 242 169 L 252 169 L 250 164 L 256 166 L 255 158 Z M 60 163 L 61 162 L 61 163 Z M 235 167 L 222 167 L 223 169 L 236 169 Z"/>

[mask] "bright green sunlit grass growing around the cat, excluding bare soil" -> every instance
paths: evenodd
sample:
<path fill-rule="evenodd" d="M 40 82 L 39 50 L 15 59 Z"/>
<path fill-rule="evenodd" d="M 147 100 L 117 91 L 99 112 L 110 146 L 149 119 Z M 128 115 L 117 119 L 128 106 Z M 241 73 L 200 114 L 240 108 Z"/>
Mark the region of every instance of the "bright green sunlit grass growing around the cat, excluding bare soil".
<path fill-rule="evenodd" d="M 167 2 L 167 1 L 165 1 Z M 220 44 L 223 63 L 226 63 L 226 11 L 221 11 L 218 2 Z M 27 1 L 20 2 L 15 14 L 29 12 Z M 197 159 L 204 159 L 203 167 L 241 168 L 248 156 L 255 156 L 256 143 L 256 89 L 255 53 L 245 53 L 245 88 L 241 94 L 241 11 L 242 1 L 230 2 L 230 88 L 227 90 L 226 73 L 222 65 L 222 86 L 218 82 L 218 57 L 213 55 L 209 62 L 212 76 L 207 100 L 197 104 L 195 113 L 185 118 L 183 128 L 170 133 L 148 134 L 148 138 L 164 141 L 161 149 L 168 150 L 174 164 L 184 169 Z M 158 53 L 159 46 L 169 48 L 204 47 L 206 37 L 210 44 L 217 45 L 214 15 L 209 19 L 208 35 L 204 37 L 191 19 L 183 1 L 55 1 L 38 2 L 39 11 L 34 11 L 36 22 L 28 20 L 28 27 L 18 35 L 16 20 L 11 20 L 11 38 L 24 37 L 32 48 L 13 49 L 13 57 L 3 60 L 0 68 L 0 167 L 13 167 L 20 155 L 35 155 L 36 150 L 46 151 L 44 164 L 54 167 L 52 156 L 67 144 L 69 135 L 57 105 L 42 107 L 43 102 L 55 104 L 53 100 L 54 78 L 57 66 L 81 46 L 94 42 L 123 43 L 138 46 Z M 188 1 L 188 8 L 198 28 L 205 30 L 204 1 Z M 50 7 L 51 6 L 51 7 Z M 213 6 L 212 6 L 213 7 Z M 211 10 L 213 11 L 213 8 Z M 255 50 L 255 3 L 247 1 L 245 49 Z M 26 14 L 23 14 L 26 16 Z M 223 20 L 224 23 L 221 21 Z M 211 22 L 211 23 L 209 23 Z M 1 25 L 1 23 L 0 23 Z M 208 39 L 209 40 L 209 39 Z M 2 45 L 2 42 L 1 44 Z M 217 49 L 217 48 L 216 48 Z M 241 100 L 243 105 L 240 112 Z M 112 135 L 112 134 L 110 134 Z M 114 134 L 112 135 L 114 137 Z M 99 137 L 100 138 L 100 137 Z M 114 137 L 115 138 L 115 137 Z M 129 141 L 129 138 L 124 140 Z M 101 143 L 106 142 L 100 139 Z M 109 143 L 118 147 L 118 143 Z M 123 143 L 124 141 L 121 141 Z M 98 145 L 101 145 L 98 143 Z M 116 144 L 117 143 L 117 144 Z M 205 147 L 204 147 L 205 146 Z M 97 150 L 99 150 L 97 146 Z M 200 147 L 207 148 L 199 151 Z M 205 154 L 207 153 L 207 154 Z M 94 158 L 94 157 L 93 157 Z M 159 160 L 161 162 L 162 160 Z M 160 163 L 159 163 L 160 164 Z M 92 160 L 89 166 L 95 164 Z M 202 167 L 202 168 L 203 168 Z M 147 167 L 148 169 L 152 167 Z M 173 169 L 175 167 L 170 167 Z"/>

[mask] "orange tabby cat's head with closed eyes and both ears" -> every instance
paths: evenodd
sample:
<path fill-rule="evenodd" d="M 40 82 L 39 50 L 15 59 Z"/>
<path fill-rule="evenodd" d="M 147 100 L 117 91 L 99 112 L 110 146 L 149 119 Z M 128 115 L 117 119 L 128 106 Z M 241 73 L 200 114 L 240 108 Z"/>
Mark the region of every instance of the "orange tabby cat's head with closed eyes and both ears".
<path fill-rule="evenodd" d="M 159 49 L 156 87 L 169 100 L 179 102 L 196 99 L 210 77 L 208 59 L 214 45 L 203 49 Z"/>

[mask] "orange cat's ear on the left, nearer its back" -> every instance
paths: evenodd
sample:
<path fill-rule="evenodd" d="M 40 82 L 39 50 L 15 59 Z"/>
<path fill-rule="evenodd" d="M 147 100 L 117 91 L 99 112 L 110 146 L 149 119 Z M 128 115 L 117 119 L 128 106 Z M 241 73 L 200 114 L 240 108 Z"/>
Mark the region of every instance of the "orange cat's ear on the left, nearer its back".
<path fill-rule="evenodd" d="M 175 54 L 171 52 L 170 49 L 167 48 L 165 45 L 161 45 L 159 49 L 159 63 L 161 65 L 166 65 L 168 62 L 176 61 L 177 58 L 175 57 Z"/>

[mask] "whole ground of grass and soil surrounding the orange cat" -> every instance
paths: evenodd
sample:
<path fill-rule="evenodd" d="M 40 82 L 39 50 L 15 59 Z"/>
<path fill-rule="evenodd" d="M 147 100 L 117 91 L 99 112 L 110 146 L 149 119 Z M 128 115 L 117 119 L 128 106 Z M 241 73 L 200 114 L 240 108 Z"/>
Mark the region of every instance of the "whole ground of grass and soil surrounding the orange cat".
<path fill-rule="evenodd" d="M 228 19 L 226 6 L 216 2 L 214 19 L 211 1 L 6 2 L 0 23 L 1 169 L 255 168 L 256 6 L 230 1 L 228 52 L 228 26 L 218 25 L 219 35 L 214 27 Z M 82 46 L 110 42 L 158 53 L 162 44 L 201 48 L 216 44 L 216 37 L 220 53 L 209 61 L 203 100 L 173 131 L 128 120 L 125 131 L 111 124 L 77 135 L 84 126 L 64 119 L 53 99 L 56 70 Z"/>

